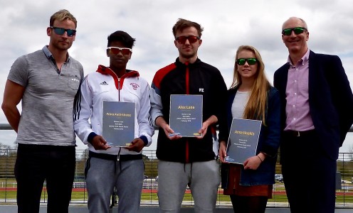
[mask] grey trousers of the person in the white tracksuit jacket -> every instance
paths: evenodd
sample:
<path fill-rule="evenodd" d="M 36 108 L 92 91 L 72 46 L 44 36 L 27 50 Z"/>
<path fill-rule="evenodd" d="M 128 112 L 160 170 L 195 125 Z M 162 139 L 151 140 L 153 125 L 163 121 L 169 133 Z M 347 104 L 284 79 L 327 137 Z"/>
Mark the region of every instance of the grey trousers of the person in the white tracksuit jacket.
<path fill-rule="evenodd" d="M 119 197 L 118 212 L 138 212 L 144 180 L 143 160 L 89 159 L 86 164 L 89 212 L 108 213 L 114 187 Z"/>

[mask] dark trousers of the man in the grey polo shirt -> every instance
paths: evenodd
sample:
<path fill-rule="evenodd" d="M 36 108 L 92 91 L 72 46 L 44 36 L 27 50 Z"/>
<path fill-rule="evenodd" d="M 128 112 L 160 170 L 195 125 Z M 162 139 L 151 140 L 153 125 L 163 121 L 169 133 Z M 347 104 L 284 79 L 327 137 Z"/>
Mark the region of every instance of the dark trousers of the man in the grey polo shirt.
<path fill-rule="evenodd" d="M 44 180 L 47 212 L 68 212 L 74 176 L 75 146 L 20 143 L 15 165 L 18 212 L 39 212 Z"/>

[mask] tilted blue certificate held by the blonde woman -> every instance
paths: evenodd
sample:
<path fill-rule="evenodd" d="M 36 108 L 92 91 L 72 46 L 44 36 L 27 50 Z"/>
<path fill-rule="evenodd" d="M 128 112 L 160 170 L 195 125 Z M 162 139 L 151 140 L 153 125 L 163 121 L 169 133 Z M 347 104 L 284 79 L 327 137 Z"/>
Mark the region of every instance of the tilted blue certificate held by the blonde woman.
<path fill-rule="evenodd" d="M 229 133 L 226 161 L 243 164 L 256 154 L 262 121 L 233 119 Z"/>

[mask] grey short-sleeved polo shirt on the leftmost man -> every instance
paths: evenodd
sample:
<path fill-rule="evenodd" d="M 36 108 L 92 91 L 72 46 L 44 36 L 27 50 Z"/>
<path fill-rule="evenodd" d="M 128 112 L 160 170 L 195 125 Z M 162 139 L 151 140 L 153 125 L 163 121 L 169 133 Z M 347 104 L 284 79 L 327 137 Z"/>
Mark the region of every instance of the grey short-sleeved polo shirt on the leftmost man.
<path fill-rule="evenodd" d="M 47 46 L 18 58 L 8 80 L 25 87 L 17 143 L 74 146 L 73 106 L 83 67 L 68 57 L 58 71 Z"/>

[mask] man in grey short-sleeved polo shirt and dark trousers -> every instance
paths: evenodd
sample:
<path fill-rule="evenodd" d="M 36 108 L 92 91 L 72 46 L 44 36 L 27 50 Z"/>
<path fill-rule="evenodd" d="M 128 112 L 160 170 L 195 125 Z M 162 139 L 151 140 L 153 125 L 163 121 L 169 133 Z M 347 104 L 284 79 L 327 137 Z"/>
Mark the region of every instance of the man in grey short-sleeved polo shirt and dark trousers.
<path fill-rule="evenodd" d="M 44 180 L 48 212 L 68 212 L 75 174 L 73 107 L 83 80 L 82 65 L 68 55 L 76 27 L 69 11 L 54 13 L 46 29 L 49 45 L 18 58 L 6 81 L 1 107 L 19 144 L 15 165 L 19 212 L 39 212 Z"/>

